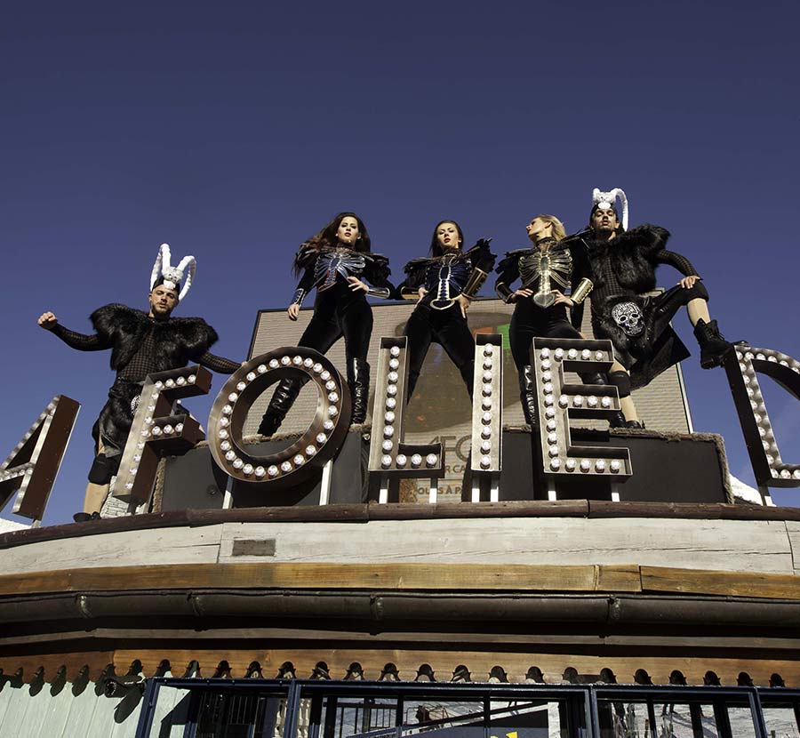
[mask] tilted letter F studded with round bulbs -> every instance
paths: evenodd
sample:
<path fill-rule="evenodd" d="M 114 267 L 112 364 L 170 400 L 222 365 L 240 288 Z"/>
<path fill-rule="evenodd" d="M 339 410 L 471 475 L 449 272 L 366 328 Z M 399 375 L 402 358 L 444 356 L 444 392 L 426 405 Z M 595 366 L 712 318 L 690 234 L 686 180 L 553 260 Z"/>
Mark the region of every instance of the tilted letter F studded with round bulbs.
<path fill-rule="evenodd" d="M 136 505 L 147 502 L 162 454 L 186 453 L 204 439 L 203 430 L 195 418 L 185 412 L 176 412 L 175 405 L 182 397 L 207 395 L 211 379 L 211 372 L 203 366 L 185 366 L 148 374 L 111 487 L 111 494 L 118 500 Z"/>

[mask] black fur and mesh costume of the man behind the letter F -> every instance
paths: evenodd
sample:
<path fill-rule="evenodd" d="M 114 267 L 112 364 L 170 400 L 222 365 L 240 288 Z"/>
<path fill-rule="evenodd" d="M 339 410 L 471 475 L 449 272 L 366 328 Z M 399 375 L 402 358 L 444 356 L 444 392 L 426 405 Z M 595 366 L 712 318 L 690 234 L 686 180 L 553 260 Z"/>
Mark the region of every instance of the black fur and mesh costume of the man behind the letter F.
<path fill-rule="evenodd" d="M 73 349 L 111 349 L 111 368 L 116 371 L 116 381 L 108 390 L 108 402 L 92 428 L 95 443 L 104 451 L 98 454 L 89 473 L 89 481 L 104 485 L 119 467 L 148 374 L 179 369 L 190 361 L 230 374 L 239 364 L 208 352 L 218 336 L 201 317 L 156 320 L 141 310 L 111 304 L 95 310 L 90 319 L 96 331 L 93 335 L 76 333 L 60 324 L 52 328 L 52 333 Z"/>

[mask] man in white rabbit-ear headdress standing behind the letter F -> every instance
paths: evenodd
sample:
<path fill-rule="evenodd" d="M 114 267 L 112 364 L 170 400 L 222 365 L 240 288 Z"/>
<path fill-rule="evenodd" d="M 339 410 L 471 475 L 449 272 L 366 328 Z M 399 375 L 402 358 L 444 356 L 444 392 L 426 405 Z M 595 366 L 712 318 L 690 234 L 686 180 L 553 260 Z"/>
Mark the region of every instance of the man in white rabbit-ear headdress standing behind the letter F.
<path fill-rule="evenodd" d="M 209 353 L 218 336 L 203 318 L 172 317 L 172 310 L 192 285 L 195 270 L 194 256 L 184 257 L 173 267 L 170 247 L 162 244 L 150 275 L 148 312 L 118 303 L 106 305 L 90 317 L 95 330 L 92 335 L 70 331 L 60 325 L 52 312 L 39 318 L 39 325 L 73 349 L 111 349 L 111 368 L 116 371 L 108 402 L 92 428 L 97 455 L 89 471 L 84 512 L 78 513 L 76 520 L 100 517 L 148 374 L 179 369 L 190 361 L 224 374 L 233 373 L 240 366 Z"/>

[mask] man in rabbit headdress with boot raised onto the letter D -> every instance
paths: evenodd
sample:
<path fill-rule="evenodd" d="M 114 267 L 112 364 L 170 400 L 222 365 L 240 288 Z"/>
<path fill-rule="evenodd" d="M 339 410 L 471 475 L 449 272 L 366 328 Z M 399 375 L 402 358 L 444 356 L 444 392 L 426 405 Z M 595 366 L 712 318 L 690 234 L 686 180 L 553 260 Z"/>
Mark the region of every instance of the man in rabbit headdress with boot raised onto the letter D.
<path fill-rule="evenodd" d="M 614 205 L 622 203 L 622 222 Z M 609 380 L 620 392 L 628 428 L 642 428 L 631 389 L 644 387 L 669 366 L 683 361 L 689 351 L 669 321 L 686 306 L 694 335 L 700 344 L 700 366 L 722 363 L 732 344 L 719 333 L 708 315 L 708 291 L 692 262 L 668 251 L 667 230 L 644 224 L 628 228 L 628 199 L 621 189 L 593 192 L 589 235 L 585 239 L 595 288 L 591 293 L 592 328 L 596 338 L 610 339 L 617 361 Z M 684 277 L 665 293 L 650 297 L 655 289 L 655 269 L 669 264 Z"/>

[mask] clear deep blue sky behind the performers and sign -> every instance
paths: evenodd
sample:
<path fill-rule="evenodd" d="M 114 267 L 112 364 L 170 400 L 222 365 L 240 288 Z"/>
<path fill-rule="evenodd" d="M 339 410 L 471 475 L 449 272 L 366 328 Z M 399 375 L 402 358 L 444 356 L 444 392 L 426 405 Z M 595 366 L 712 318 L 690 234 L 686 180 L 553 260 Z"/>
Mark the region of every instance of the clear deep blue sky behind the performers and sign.
<path fill-rule="evenodd" d="M 397 275 L 442 218 L 503 252 L 532 215 L 577 230 L 593 187 L 622 187 L 632 223 L 665 226 L 693 261 L 728 338 L 800 358 L 798 16 L 774 0 L 6 9 L 0 459 L 53 395 L 76 398 L 44 522 L 80 509 L 113 373 L 108 353 L 38 329 L 42 311 L 88 332 L 100 305 L 144 307 L 167 241 L 198 260 L 176 315 L 244 358 L 256 311 L 291 298 L 296 245 L 340 210 Z M 685 315 L 676 327 L 696 349 Z M 695 428 L 722 433 L 753 484 L 724 373 L 694 353 Z M 784 461 L 800 461 L 800 405 L 768 400 Z M 191 403 L 203 421 L 207 406 Z"/>

